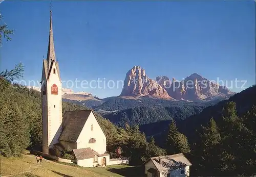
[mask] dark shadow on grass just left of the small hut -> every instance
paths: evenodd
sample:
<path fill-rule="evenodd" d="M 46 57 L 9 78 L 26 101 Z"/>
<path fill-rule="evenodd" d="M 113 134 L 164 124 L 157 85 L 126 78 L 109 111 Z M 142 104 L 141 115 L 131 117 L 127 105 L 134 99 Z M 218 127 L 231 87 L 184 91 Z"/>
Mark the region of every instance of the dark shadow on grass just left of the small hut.
<path fill-rule="evenodd" d="M 110 172 L 120 174 L 122 176 L 144 176 L 144 171 L 142 167 L 126 167 L 126 168 L 109 168 Z"/>

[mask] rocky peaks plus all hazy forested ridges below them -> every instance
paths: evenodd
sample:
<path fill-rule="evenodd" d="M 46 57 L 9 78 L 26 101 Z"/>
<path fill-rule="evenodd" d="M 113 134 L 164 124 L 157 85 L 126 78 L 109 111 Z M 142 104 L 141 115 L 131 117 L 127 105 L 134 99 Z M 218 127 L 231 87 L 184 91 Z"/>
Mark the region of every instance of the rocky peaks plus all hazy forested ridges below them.
<path fill-rule="evenodd" d="M 28 88 L 40 91 L 39 87 Z M 129 123 L 142 128 L 145 124 L 158 121 L 184 120 L 233 94 L 224 86 L 210 82 L 197 73 L 189 75 L 184 81 L 170 81 L 166 76 L 152 80 L 139 66 L 126 73 L 119 96 L 100 99 L 88 92 L 62 88 L 64 102 L 94 109 L 120 127 Z"/>

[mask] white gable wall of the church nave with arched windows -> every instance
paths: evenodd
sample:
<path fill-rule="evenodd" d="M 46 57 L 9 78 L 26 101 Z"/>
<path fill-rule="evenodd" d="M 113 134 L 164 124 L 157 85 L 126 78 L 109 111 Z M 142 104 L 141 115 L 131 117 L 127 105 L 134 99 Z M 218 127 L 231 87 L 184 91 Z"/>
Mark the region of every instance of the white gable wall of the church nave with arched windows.
<path fill-rule="evenodd" d="M 93 125 L 93 130 L 91 126 Z M 95 143 L 89 143 L 89 140 L 94 138 Z M 91 147 L 99 154 L 104 154 L 106 151 L 106 137 L 100 128 L 94 114 L 91 112 L 84 127 L 77 139 L 77 148 Z"/>

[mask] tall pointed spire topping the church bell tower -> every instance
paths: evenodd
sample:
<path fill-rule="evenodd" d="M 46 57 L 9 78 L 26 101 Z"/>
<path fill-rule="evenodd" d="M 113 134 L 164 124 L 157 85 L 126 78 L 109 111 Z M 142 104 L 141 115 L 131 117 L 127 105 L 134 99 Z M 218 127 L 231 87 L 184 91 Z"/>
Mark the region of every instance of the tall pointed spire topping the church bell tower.
<path fill-rule="evenodd" d="M 50 11 L 50 33 L 49 33 L 49 44 L 48 44 L 48 53 L 47 53 L 48 69 L 52 60 L 55 60 L 55 50 L 54 50 L 53 30 L 52 30 L 52 11 Z"/>

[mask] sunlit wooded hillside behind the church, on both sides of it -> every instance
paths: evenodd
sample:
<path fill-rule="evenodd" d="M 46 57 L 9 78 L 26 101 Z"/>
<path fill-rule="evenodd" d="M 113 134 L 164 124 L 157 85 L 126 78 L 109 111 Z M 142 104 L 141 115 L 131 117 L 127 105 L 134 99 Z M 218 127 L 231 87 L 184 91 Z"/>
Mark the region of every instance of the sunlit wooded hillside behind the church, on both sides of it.
<path fill-rule="evenodd" d="M 19 85 L 11 85 L 1 78 L 0 90 L 1 154 L 11 157 L 19 156 L 24 149 L 41 150 L 40 93 L 28 88 L 21 88 Z M 62 109 L 62 113 L 65 113 L 68 110 L 88 108 L 62 102 Z M 107 150 L 111 156 L 118 146 L 122 147 L 123 156 L 130 158 L 132 164 L 141 164 L 149 157 L 165 154 L 165 151 L 153 142 L 147 142 L 145 135 L 139 131 L 138 127 L 121 129 L 99 114 L 96 116 L 106 135 Z M 143 146 L 140 146 L 141 144 Z M 148 148 L 149 146 L 154 149 Z"/>

